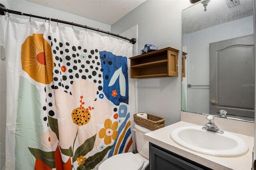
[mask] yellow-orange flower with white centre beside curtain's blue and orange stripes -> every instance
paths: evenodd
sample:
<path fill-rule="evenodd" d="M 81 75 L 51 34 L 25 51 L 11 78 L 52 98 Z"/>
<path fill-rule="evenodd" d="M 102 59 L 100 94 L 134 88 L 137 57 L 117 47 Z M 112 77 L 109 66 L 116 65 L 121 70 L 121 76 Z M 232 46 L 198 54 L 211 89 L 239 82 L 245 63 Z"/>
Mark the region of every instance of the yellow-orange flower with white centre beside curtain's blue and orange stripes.
<path fill-rule="evenodd" d="M 117 127 L 118 127 L 118 122 L 114 122 L 112 124 L 112 121 L 110 119 L 106 119 L 104 123 L 104 128 L 100 129 L 99 132 L 99 137 L 104 138 L 104 143 L 106 145 L 111 143 L 111 138 L 113 140 L 116 140 L 117 137 Z"/>

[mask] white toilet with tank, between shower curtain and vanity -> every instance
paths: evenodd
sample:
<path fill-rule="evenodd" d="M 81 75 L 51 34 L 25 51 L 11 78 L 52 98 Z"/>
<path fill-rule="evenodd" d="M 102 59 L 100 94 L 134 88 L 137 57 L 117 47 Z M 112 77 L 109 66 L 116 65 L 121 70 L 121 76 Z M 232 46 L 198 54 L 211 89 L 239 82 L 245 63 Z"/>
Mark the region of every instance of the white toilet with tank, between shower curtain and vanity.
<path fill-rule="evenodd" d="M 151 132 L 148 128 L 135 123 L 136 146 L 138 153 L 132 152 L 116 154 L 100 164 L 98 170 L 145 170 L 149 164 L 148 141 L 144 134 Z"/>

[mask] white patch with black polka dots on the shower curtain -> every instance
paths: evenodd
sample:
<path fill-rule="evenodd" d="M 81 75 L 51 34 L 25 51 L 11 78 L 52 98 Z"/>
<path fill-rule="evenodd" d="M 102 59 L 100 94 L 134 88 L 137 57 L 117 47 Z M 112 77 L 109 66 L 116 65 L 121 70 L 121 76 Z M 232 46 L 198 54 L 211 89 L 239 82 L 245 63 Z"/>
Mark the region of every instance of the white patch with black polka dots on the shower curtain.
<path fill-rule="evenodd" d="M 48 103 L 46 102 L 46 104 L 43 105 L 43 110 L 49 116 L 56 118 L 56 111 L 54 110 L 54 90 L 61 89 L 68 95 L 72 95 L 72 84 L 75 81 L 84 79 L 96 84 L 98 87 L 98 95 L 99 91 L 103 90 L 103 69 L 100 66 L 101 61 L 98 49 L 87 49 L 83 45 L 75 45 L 72 44 L 72 42 L 67 42 L 66 40 L 58 40 L 56 37 L 51 37 L 50 41 L 53 43 L 52 54 L 55 65 L 53 69 L 54 81 L 50 86 L 52 91 L 48 91 L 47 89 L 45 91 L 47 92 L 46 101 Z M 65 69 L 63 69 L 63 67 L 65 67 Z M 49 96 L 50 93 L 51 97 Z M 95 101 L 96 100 L 97 98 Z M 44 117 L 42 117 L 42 119 L 43 118 Z M 48 119 L 45 122 L 47 121 Z M 76 123 L 79 124 L 80 122 L 82 124 L 82 121 L 80 120 Z"/>

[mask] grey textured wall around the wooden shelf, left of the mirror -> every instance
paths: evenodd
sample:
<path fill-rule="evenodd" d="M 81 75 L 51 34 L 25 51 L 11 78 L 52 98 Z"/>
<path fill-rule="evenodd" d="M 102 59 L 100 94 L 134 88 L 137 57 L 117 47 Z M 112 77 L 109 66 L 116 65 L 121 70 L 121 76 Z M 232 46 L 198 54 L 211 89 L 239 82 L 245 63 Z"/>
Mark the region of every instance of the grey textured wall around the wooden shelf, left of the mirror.
<path fill-rule="evenodd" d="M 191 5 L 189 0 L 147 0 L 113 24 L 111 31 L 119 34 L 138 24 L 138 53 L 146 43 L 181 51 L 181 11 Z M 138 112 L 164 117 L 166 125 L 180 121 L 181 53 L 178 69 L 178 77 L 138 79 Z"/>

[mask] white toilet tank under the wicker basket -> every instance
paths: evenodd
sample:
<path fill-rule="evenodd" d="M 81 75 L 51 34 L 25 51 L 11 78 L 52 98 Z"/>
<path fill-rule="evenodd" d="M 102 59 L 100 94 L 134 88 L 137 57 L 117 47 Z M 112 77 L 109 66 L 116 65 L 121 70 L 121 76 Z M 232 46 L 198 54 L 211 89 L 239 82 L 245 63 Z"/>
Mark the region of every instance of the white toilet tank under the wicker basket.
<path fill-rule="evenodd" d="M 134 124 L 134 127 L 136 129 L 135 137 L 137 150 L 142 156 L 149 159 L 149 143 L 147 140 L 144 140 L 144 134 L 151 132 L 152 130 L 137 125 L 136 123 Z"/>

